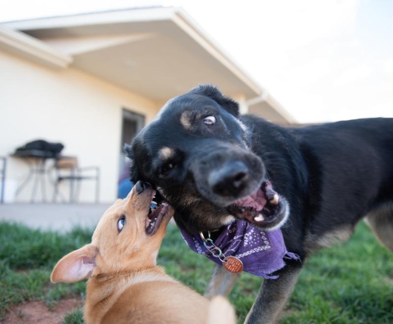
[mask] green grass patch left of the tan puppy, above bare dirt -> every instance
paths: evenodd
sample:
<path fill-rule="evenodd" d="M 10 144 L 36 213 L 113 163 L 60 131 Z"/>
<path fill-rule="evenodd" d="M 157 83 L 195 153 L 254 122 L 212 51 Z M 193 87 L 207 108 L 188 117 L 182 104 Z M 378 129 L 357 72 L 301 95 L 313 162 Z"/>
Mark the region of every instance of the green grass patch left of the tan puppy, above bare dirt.
<path fill-rule="evenodd" d="M 91 230 L 66 235 L 0 222 L 0 320 L 11 306 L 42 300 L 52 308 L 65 296 L 85 294 L 85 283 L 52 284 L 53 266 L 66 253 L 88 243 Z"/>

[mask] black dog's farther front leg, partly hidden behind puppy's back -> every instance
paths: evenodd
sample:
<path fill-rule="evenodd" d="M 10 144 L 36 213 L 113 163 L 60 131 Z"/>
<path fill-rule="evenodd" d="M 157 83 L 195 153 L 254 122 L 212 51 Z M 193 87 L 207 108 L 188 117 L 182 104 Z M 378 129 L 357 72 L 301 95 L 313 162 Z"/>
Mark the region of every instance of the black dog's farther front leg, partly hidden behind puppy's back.
<path fill-rule="evenodd" d="M 216 264 L 204 296 L 208 299 L 211 299 L 218 295 L 229 295 L 239 278 L 239 273 L 229 272 L 225 270 L 223 266 Z"/>

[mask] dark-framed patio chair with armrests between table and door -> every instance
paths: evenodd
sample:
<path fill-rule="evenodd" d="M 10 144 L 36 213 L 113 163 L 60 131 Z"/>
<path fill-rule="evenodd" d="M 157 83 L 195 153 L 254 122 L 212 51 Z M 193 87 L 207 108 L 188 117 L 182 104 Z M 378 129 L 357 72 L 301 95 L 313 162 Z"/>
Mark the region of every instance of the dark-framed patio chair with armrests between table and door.
<path fill-rule="evenodd" d="M 70 183 L 70 197 L 69 203 L 77 203 L 81 191 L 81 182 L 84 180 L 95 181 L 95 203 L 99 202 L 99 188 L 100 188 L 100 168 L 98 166 L 79 167 L 78 159 L 76 157 L 60 156 L 56 159 L 54 170 L 55 189 L 53 193 L 53 201 L 61 194 L 58 186 L 61 182 L 69 181 Z M 63 199 L 64 201 L 64 199 Z"/>

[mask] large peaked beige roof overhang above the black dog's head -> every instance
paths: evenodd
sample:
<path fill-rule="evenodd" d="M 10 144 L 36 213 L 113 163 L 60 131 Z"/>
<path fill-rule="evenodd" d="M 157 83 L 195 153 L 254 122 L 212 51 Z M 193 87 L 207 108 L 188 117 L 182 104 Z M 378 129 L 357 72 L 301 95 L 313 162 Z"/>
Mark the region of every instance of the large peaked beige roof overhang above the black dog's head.
<path fill-rule="evenodd" d="M 292 120 L 275 100 L 265 100 L 271 96 L 181 8 L 115 10 L 2 25 L 72 57 L 73 67 L 157 102 L 198 83 L 213 83 L 228 96 L 256 99 L 250 112 L 266 117 L 265 111 L 272 111 L 272 120 Z"/>

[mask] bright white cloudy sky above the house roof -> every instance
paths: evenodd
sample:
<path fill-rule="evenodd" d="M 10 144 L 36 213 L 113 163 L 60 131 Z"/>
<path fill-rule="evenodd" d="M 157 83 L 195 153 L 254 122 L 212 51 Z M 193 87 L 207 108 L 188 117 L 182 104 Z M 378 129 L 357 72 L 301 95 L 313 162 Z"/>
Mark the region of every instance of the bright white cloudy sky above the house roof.
<path fill-rule="evenodd" d="M 301 123 L 393 117 L 391 0 L 0 0 L 0 22 L 183 7 Z"/>

